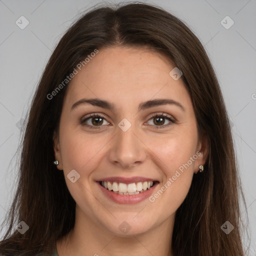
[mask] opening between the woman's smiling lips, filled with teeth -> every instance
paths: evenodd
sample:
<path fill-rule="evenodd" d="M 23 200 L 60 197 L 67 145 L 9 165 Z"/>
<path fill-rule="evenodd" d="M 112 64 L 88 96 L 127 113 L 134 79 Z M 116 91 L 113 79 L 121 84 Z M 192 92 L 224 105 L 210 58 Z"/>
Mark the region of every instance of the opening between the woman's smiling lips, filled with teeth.
<path fill-rule="evenodd" d="M 112 191 L 116 194 L 121 195 L 134 195 L 143 193 L 144 191 L 150 189 L 158 181 L 144 181 L 137 183 L 122 183 L 122 182 L 110 182 L 110 181 L 99 181 L 99 184 L 105 189 Z"/>

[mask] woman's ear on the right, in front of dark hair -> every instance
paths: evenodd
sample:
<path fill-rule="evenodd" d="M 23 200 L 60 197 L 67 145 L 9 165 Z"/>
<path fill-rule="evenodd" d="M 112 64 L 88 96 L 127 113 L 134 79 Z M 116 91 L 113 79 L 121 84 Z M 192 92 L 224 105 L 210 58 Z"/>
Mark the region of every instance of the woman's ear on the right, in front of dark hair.
<path fill-rule="evenodd" d="M 199 165 L 204 165 L 209 154 L 209 141 L 204 133 L 197 144 L 197 159 L 194 161 L 194 173 L 199 171 Z"/>

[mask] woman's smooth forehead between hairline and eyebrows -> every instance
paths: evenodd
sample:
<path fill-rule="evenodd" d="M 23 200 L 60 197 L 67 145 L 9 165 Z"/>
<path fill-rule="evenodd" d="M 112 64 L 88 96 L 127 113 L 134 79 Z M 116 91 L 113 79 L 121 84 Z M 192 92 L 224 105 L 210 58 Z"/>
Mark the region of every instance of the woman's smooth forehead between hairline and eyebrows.
<path fill-rule="evenodd" d="M 123 104 L 169 96 L 189 101 L 182 80 L 169 75 L 174 67 L 148 48 L 102 48 L 72 78 L 66 100 L 71 104 L 83 96 L 99 97 Z"/>

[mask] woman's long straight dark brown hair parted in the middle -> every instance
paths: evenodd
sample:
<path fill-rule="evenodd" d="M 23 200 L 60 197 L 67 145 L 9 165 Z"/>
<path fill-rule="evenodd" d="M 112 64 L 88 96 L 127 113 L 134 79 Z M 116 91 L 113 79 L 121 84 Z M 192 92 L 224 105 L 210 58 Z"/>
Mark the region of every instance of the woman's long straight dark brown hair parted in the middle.
<path fill-rule="evenodd" d="M 102 47 L 118 45 L 158 51 L 182 71 L 196 116 L 199 135 L 209 141 L 209 155 L 201 175 L 177 209 L 171 246 L 175 256 L 244 255 L 241 242 L 240 179 L 220 87 L 210 60 L 197 37 L 180 19 L 144 3 L 104 4 L 83 14 L 63 35 L 40 78 L 22 141 L 18 185 L 0 242 L 6 255 L 50 253 L 56 240 L 74 226 L 75 201 L 63 172 L 54 161 L 52 136 L 58 130 L 68 83 L 50 93 L 77 63 Z M 245 203 L 245 201 L 244 201 Z M 229 221 L 234 229 L 220 228 Z M 20 234 L 13 227 L 24 221 Z"/>

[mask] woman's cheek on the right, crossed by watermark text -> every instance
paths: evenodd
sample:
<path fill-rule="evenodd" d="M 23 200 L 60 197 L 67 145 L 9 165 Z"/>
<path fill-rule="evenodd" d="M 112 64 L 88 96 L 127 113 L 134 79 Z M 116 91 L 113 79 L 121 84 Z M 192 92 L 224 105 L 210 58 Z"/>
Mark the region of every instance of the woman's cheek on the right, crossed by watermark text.
<path fill-rule="evenodd" d="M 166 136 L 164 143 L 157 147 L 166 178 L 159 187 L 164 191 L 158 194 L 168 205 L 166 214 L 174 212 L 187 195 L 193 177 L 194 160 L 197 158 L 196 145 L 196 128 L 180 128 L 178 132 Z"/>

